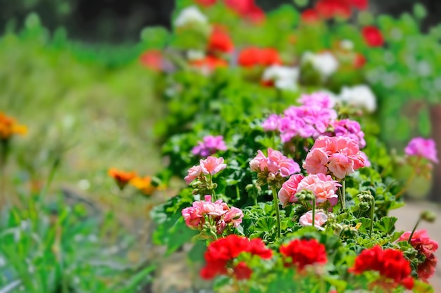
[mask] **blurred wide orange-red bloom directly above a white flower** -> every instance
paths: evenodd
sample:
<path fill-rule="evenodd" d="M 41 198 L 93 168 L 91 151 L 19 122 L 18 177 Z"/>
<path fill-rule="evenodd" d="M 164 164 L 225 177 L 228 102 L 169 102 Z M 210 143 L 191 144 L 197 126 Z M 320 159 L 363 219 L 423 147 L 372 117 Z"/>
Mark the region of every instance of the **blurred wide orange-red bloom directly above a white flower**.
<path fill-rule="evenodd" d="M 237 63 L 242 67 L 280 65 L 279 53 L 274 48 L 244 48 L 239 53 Z"/>

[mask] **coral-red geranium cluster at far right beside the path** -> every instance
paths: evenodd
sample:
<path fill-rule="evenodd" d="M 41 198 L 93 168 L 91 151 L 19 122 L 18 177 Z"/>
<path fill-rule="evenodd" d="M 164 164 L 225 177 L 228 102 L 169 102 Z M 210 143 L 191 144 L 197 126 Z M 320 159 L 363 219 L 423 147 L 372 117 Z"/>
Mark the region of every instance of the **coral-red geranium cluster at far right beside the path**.
<path fill-rule="evenodd" d="M 398 241 L 408 241 L 411 236 L 411 232 L 406 232 L 399 237 Z M 427 234 L 426 230 L 417 230 L 412 235 L 410 244 L 418 250 L 419 254 L 425 256 L 423 263 L 420 263 L 417 268 L 418 279 L 426 281 L 433 276 L 437 264 L 437 257 L 435 252 L 438 249 L 438 243 Z"/>

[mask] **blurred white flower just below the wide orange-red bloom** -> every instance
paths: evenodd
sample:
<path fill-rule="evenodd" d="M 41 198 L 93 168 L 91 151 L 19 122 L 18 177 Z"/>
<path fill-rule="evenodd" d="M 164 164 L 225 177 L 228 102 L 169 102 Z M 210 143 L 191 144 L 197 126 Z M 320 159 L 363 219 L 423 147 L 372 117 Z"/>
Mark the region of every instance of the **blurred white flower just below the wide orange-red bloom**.
<path fill-rule="evenodd" d="M 263 82 L 274 82 L 274 86 L 278 89 L 297 90 L 297 80 L 299 79 L 298 67 L 286 67 L 273 65 L 263 72 Z"/>

